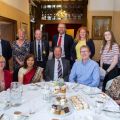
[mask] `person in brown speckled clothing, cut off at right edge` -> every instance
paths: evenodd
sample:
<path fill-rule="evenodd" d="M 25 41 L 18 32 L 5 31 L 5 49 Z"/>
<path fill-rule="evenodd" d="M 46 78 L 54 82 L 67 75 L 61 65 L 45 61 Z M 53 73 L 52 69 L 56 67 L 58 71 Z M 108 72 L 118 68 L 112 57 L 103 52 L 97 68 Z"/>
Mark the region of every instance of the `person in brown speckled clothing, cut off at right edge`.
<path fill-rule="evenodd" d="M 120 76 L 107 82 L 106 93 L 120 105 Z"/>

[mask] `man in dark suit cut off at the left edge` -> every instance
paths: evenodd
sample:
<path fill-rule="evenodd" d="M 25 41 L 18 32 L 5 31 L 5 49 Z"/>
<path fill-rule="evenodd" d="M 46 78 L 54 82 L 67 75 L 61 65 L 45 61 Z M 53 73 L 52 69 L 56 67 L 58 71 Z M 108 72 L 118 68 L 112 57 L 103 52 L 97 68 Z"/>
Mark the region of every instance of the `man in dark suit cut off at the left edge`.
<path fill-rule="evenodd" d="M 0 31 L 0 55 L 2 55 L 6 60 L 5 69 L 9 69 L 9 60 L 12 57 L 12 49 L 10 43 L 2 39 L 1 31 Z"/>

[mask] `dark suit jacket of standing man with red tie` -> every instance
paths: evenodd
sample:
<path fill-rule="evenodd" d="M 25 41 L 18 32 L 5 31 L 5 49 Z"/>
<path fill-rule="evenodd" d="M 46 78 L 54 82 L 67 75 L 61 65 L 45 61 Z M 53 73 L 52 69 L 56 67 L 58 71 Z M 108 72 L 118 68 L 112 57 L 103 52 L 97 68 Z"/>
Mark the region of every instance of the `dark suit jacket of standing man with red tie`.
<path fill-rule="evenodd" d="M 58 42 L 58 37 L 59 35 L 54 35 L 53 37 L 53 41 L 52 41 L 52 47 L 54 48 L 55 46 L 57 46 L 57 42 Z M 65 58 L 68 60 L 71 60 L 71 48 L 73 45 L 73 38 L 70 35 L 65 34 L 65 38 L 64 38 L 64 51 L 65 51 Z"/>

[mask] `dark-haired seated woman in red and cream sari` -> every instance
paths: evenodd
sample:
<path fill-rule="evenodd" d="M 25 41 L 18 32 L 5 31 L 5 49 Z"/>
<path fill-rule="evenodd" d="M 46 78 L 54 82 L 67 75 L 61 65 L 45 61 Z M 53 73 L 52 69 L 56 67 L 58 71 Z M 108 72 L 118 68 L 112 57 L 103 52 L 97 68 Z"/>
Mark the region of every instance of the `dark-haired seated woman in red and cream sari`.
<path fill-rule="evenodd" d="M 35 83 L 42 80 L 41 67 L 36 67 L 35 57 L 29 54 L 25 57 L 24 65 L 19 69 L 18 81 L 22 84 Z"/>

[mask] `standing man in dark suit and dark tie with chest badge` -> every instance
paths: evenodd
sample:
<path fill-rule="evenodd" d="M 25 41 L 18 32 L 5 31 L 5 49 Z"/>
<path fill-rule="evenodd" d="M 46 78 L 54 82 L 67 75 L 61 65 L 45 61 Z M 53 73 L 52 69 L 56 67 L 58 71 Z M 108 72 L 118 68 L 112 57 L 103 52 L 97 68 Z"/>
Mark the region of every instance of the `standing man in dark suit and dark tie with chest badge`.
<path fill-rule="evenodd" d="M 30 53 L 35 55 L 37 66 L 45 68 L 49 55 L 49 42 L 42 40 L 42 31 L 35 31 L 35 40 L 30 43 Z"/>

